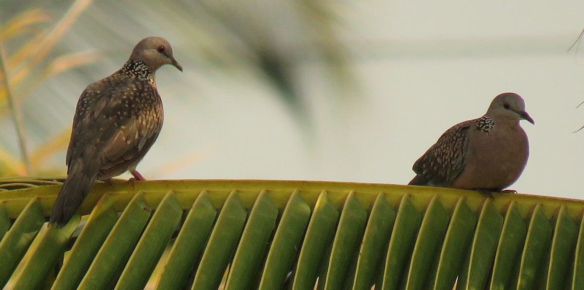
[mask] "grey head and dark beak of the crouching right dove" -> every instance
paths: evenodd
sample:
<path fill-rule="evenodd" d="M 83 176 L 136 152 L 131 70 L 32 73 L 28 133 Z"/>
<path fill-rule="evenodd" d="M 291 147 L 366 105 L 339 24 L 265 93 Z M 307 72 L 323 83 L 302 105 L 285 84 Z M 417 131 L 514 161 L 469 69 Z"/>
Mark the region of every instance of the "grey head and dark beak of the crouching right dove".
<path fill-rule="evenodd" d="M 516 93 L 503 93 L 496 96 L 486 111 L 485 116 L 494 120 L 507 120 L 516 123 L 519 123 L 520 120 L 527 120 L 535 124 L 533 119 L 525 111 L 523 98 Z"/>

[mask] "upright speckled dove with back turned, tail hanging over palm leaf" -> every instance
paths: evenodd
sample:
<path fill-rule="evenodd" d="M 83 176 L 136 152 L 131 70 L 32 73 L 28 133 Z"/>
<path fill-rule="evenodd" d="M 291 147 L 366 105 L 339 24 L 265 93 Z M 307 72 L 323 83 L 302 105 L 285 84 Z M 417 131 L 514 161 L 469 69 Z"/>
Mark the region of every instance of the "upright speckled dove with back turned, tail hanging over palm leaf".
<path fill-rule="evenodd" d="M 162 128 L 154 73 L 163 65 L 182 72 L 168 41 L 144 38 L 120 70 L 81 93 L 65 160 L 67 179 L 55 200 L 51 224 L 66 224 L 96 179 L 111 182 L 129 170 L 135 179 L 144 180 L 135 168 Z"/>

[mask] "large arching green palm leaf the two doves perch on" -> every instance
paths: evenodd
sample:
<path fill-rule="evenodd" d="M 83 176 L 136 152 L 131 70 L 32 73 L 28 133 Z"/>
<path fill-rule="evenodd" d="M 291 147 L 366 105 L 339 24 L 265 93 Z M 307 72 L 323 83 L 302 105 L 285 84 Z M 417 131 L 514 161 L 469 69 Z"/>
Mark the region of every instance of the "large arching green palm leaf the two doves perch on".
<path fill-rule="evenodd" d="M 61 181 L 0 180 L 0 285 L 584 287 L 580 200 L 364 183 L 117 181 L 97 183 L 80 208 L 89 215 L 57 229 L 45 220 Z"/>

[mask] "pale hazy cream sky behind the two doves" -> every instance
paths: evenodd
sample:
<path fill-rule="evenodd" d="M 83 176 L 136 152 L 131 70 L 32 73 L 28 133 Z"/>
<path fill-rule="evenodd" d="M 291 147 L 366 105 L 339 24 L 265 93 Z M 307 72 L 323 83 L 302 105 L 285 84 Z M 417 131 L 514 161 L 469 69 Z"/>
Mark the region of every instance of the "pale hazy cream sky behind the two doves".
<path fill-rule="evenodd" d="M 91 9 L 78 21 L 98 17 Z M 185 31 L 164 22 L 123 27 L 137 30 L 131 43 L 149 35 L 167 38 L 184 67 L 183 73 L 171 66 L 158 70 L 165 124 L 138 171 L 147 179 L 406 184 L 413 162 L 446 129 L 478 118 L 496 95 L 513 91 L 536 125 L 522 121 L 531 153 L 510 188 L 583 198 L 584 131 L 572 132 L 584 125 L 584 107 L 576 108 L 584 101 L 584 43 L 580 51 L 566 50 L 584 29 L 584 1 L 370 0 L 345 1 L 338 9 L 359 89 L 352 101 L 335 100 L 333 84 L 313 73 L 318 68 L 301 68 L 314 119 L 312 143 L 272 88 L 245 73 L 221 75 L 183 62 L 197 54 Z M 88 34 L 76 26 L 64 45 L 107 48 L 84 43 Z M 105 49 L 110 59 L 96 62 L 92 79 L 75 79 L 72 72 L 49 80 L 32 100 L 66 97 L 45 115 L 25 106 L 27 122 L 44 125 L 48 118 L 70 126 L 81 91 L 118 69 L 131 48 Z M 185 162 L 179 171 L 164 169 L 177 161 Z M 65 171 L 64 152 L 54 162 Z"/>

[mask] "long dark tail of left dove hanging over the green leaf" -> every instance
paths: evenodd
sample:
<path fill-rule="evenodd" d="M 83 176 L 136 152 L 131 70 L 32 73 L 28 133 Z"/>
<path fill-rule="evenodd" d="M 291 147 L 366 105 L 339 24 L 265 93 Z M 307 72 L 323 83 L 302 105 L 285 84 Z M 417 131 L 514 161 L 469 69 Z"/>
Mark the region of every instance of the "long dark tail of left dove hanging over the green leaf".
<path fill-rule="evenodd" d="M 67 224 L 83 203 L 93 183 L 95 183 L 97 172 L 87 172 L 87 168 L 84 168 L 83 163 L 82 160 L 79 160 L 69 167 L 67 179 L 65 179 L 63 187 L 57 195 L 53 213 L 51 213 L 51 218 L 48 220 L 50 224 L 56 222 L 58 227 Z"/>

